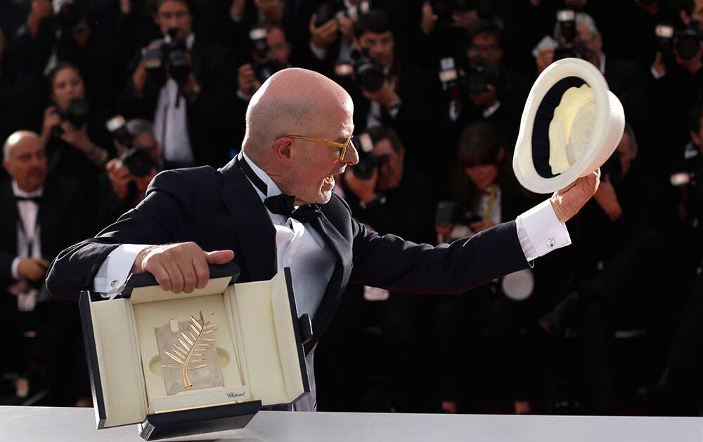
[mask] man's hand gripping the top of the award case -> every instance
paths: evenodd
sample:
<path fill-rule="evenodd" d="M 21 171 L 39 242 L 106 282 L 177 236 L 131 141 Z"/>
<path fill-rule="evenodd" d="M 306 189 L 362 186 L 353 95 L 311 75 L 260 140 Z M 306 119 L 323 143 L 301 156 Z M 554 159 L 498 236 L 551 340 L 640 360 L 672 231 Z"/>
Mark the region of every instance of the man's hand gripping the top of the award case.
<path fill-rule="evenodd" d="M 225 264 L 234 258 L 233 250 L 205 252 L 191 242 L 152 246 L 142 250 L 134 260 L 132 273 L 153 274 L 163 290 L 193 293 L 203 288 L 210 277 L 208 264 Z"/>

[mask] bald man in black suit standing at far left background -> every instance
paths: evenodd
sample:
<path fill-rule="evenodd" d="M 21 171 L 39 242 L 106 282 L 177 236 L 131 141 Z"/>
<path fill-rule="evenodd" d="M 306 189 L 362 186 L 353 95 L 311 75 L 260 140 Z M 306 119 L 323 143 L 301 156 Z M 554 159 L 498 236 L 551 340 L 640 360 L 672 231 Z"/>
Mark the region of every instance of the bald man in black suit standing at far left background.
<path fill-rule="evenodd" d="M 2 358 L 2 371 L 20 378 L 30 374 L 23 357 L 30 350 L 21 335 L 36 331 L 46 367 L 41 383 L 49 387 L 42 404 L 73 406 L 90 393 L 84 358 L 75 357 L 82 348 L 79 318 L 75 308 L 51 299 L 44 276 L 60 250 L 87 236 L 88 210 L 78 198 L 77 181 L 47 179 L 44 144 L 36 133 L 10 135 L 3 166 L 12 180 L 0 187 L 0 327 L 6 328 L 1 335 L 11 336 L 15 351 Z M 34 380 L 30 376 L 32 392 Z"/>

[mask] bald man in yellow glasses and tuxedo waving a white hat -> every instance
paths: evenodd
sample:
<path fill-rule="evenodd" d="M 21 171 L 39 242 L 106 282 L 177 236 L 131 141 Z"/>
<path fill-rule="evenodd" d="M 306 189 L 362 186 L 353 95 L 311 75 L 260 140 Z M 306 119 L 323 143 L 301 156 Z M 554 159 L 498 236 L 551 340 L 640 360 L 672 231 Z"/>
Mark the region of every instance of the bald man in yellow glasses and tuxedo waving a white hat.
<path fill-rule="evenodd" d="M 76 302 L 80 290 L 113 295 L 131 272 L 149 272 L 164 290 L 191 293 L 205 286 L 207 264 L 234 260 L 238 282 L 290 267 L 298 312 L 310 315 L 314 330 L 306 345 L 313 391 L 294 408 L 314 410 L 313 349 L 349 281 L 396 293 L 462 293 L 569 243 L 563 222 L 597 187 L 594 174 L 517 224 L 449 246 L 378 236 L 332 192 L 334 175 L 359 161 L 353 112 L 349 95 L 325 76 L 277 72 L 250 102 L 236 159 L 219 170 L 157 175 L 135 210 L 60 254 L 49 290 Z"/>

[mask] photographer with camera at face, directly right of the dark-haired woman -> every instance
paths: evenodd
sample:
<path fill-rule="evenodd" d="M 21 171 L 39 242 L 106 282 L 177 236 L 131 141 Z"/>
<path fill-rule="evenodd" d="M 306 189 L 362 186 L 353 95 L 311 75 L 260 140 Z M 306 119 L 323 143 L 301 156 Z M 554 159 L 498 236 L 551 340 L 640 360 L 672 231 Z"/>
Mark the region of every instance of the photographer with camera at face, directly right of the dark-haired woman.
<path fill-rule="evenodd" d="M 161 145 L 149 121 L 130 120 L 113 133 L 120 156 L 108 161 L 100 178 L 96 232 L 136 207 L 146 196 L 152 178 L 162 170 Z"/>

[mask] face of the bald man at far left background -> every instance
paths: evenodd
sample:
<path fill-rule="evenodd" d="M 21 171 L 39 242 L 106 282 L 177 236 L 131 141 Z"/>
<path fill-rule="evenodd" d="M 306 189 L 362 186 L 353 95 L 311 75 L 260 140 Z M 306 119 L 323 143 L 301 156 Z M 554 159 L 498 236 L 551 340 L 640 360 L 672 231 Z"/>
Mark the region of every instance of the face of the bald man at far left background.
<path fill-rule="evenodd" d="M 11 135 L 16 137 L 17 135 Z M 22 136 L 10 150 L 9 158 L 3 161 L 7 173 L 24 192 L 34 192 L 46 180 L 46 154 L 44 145 L 37 137 Z"/>

